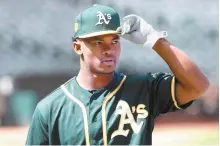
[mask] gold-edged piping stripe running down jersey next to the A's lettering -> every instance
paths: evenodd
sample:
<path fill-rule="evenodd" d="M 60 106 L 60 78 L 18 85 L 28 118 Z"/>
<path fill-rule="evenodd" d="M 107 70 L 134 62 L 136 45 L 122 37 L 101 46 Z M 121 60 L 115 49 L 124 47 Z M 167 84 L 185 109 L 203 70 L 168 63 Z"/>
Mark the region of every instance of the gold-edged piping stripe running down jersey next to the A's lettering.
<path fill-rule="evenodd" d="M 103 141 L 104 141 L 104 146 L 108 145 L 108 139 L 107 139 L 107 125 L 106 125 L 106 105 L 107 102 L 115 95 L 116 92 L 118 92 L 118 90 L 121 88 L 122 84 L 124 83 L 124 81 L 126 80 L 126 75 L 123 76 L 123 79 L 121 80 L 120 84 L 117 86 L 117 88 L 115 88 L 115 90 L 113 90 L 112 92 L 110 92 L 104 99 L 103 104 L 102 104 L 102 128 L 103 128 Z"/>

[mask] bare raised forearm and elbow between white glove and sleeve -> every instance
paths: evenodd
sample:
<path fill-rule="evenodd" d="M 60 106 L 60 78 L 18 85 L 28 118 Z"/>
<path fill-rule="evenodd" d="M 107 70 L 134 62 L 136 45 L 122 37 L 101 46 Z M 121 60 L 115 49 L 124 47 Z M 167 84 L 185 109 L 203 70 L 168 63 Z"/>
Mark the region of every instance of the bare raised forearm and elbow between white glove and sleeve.
<path fill-rule="evenodd" d="M 208 79 L 183 51 L 164 38 L 159 39 L 153 49 L 169 65 L 177 78 L 175 98 L 179 104 L 197 98 L 208 89 Z"/>

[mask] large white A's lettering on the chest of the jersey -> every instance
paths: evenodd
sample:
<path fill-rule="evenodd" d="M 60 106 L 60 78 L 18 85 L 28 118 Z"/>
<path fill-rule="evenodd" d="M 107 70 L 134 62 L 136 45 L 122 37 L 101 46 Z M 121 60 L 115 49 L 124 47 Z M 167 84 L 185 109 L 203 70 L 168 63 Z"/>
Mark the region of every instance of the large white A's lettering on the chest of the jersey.
<path fill-rule="evenodd" d="M 115 136 L 122 135 L 127 136 L 129 133 L 129 129 L 124 129 L 125 124 L 130 124 L 134 133 L 138 134 L 143 126 L 144 122 L 141 121 L 139 124 L 135 121 L 134 116 L 132 113 L 137 113 L 137 119 L 145 119 L 148 116 L 147 110 L 145 110 L 144 104 L 139 104 L 137 107 L 133 106 L 132 111 L 130 106 L 127 102 L 120 100 L 116 107 L 116 114 L 121 115 L 118 130 L 115 130 L 112 135 L 111 139 Z"/>

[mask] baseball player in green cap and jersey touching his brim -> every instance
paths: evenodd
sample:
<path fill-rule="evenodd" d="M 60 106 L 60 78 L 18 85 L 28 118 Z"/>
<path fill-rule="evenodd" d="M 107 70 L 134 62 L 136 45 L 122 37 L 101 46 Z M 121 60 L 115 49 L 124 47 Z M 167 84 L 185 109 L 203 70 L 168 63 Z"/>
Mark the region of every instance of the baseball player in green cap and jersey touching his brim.
<path fill-rule="evenodd" d="M 164 39 L 166 32 L 136 15 L 123 20 L 120 25 L 118 13 L 102 5 L 78 15 L 73 48 L 80 71 L 37 105 L 26 144 L 151 145 L 158 115 L 186 108 L 206 91 L 205 75 Z M 120 36 L 152 47 L 173 75 L 115 72 Z"/>

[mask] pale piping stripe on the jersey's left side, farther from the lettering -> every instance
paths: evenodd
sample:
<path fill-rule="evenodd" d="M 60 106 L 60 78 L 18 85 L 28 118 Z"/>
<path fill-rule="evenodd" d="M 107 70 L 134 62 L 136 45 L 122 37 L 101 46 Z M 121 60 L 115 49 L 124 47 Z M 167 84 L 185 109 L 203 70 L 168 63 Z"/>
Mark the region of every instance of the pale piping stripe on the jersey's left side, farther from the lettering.
<path fill-rule="evenodd" d="M 82 109 L 82 113 L 83 113 L 83 121 L 84 121 L 84 131 L 85 131 L 85 136 L 86 136 L 86 145 L 89 146 L 90 145 L 90 141 L 89 141 L 89 126 L 88 126 L 88 117 L 87 117 L 87 113 L 86 113 L 86 108 L 83 105 L 83 103 L 78 100 L 76 97 L 74 97 L 67 89 L 64 85 L 61 85 L 61 89 L 63 90 L 63 92 L 67 95 L 67 97 L 69 97 L 71 100 L 73 100 L 75 103 L 77 103 L 81 109 Z"/>

